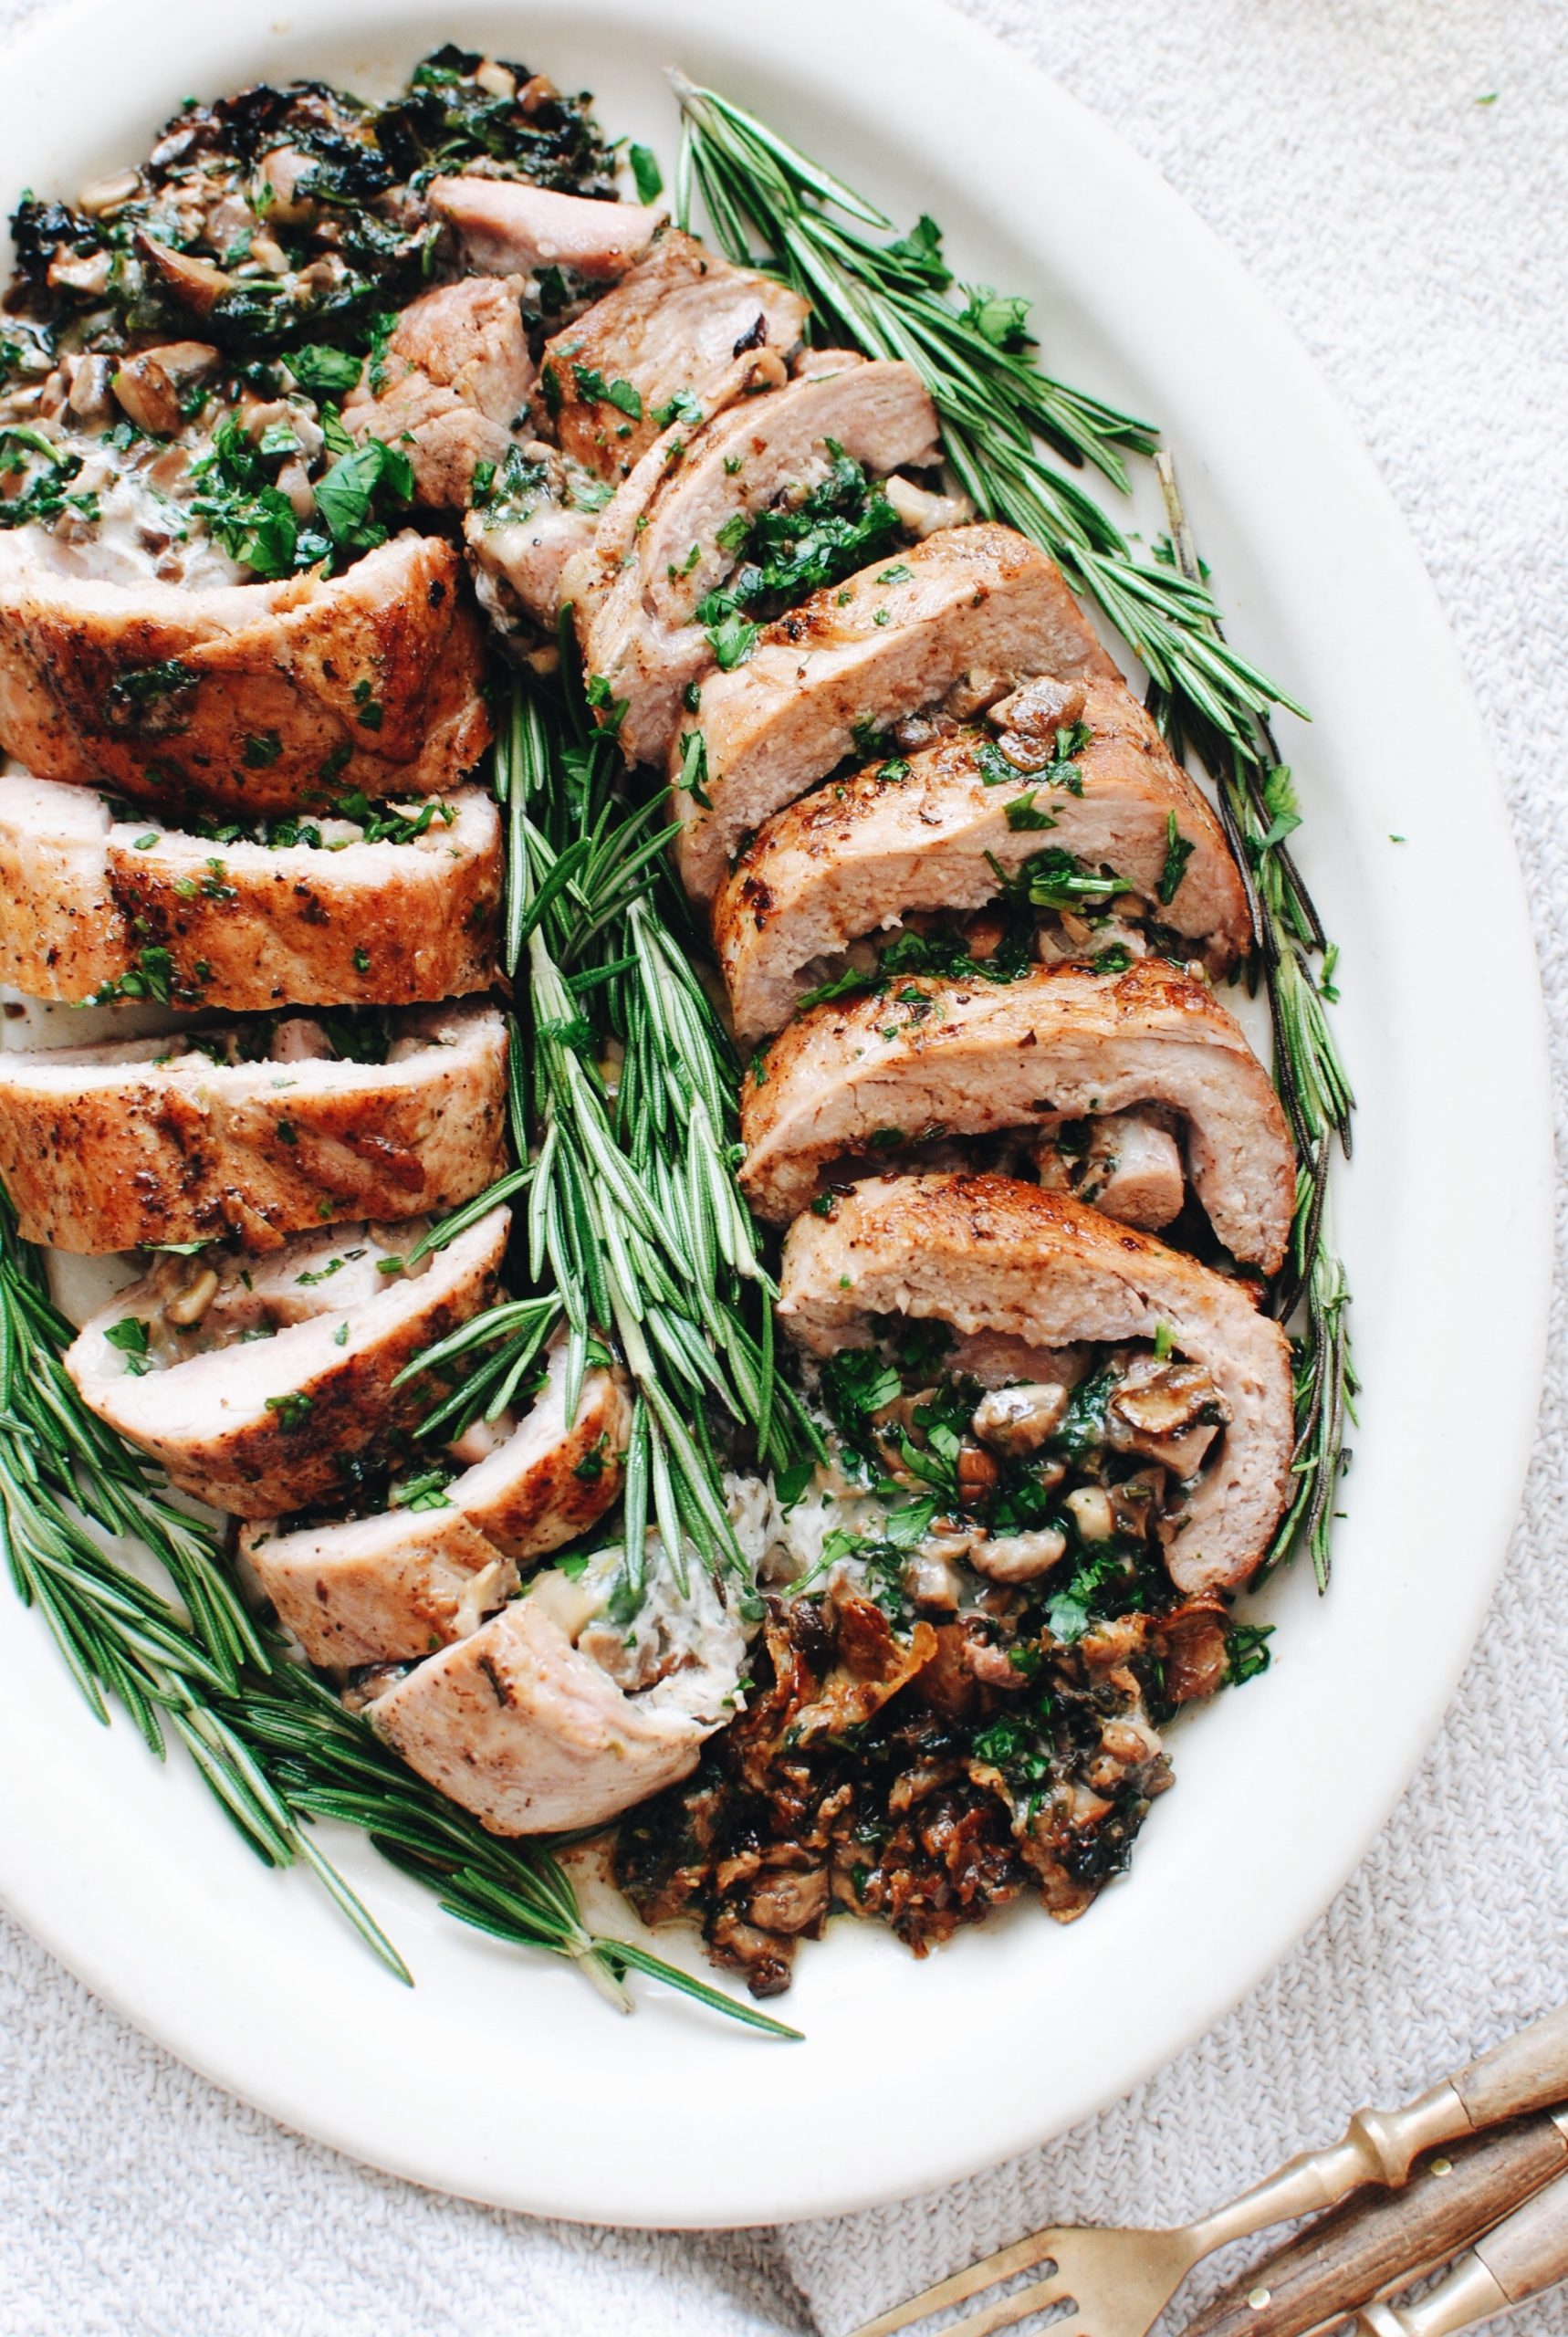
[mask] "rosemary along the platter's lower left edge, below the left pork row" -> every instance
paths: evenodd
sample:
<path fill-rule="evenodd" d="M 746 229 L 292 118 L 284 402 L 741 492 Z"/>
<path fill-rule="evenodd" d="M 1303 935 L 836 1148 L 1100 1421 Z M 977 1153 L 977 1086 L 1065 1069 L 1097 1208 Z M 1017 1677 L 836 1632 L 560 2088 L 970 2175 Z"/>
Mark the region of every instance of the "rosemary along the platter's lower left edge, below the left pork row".
<path fill-rule="evenodd" d="M 168 1736 L 182 1743 L 243 1842 L 266 1865 L 311 1867 L 397 1979 L 411 1982 L 407 1963 L 311 1821 L 369 1835 L 460 1921 L 568 1956 L 619 2010 L 631 2010 L 624 1979 L 638 1970 L 769 2036 L 797 2033 L 643 1947 L 591 1933 L 547 1851 L 498 1842 L 404 1769 L 252 1622 L 210 1526 L 77 1395 L 61 1365 L 68 1341 L 40 1253 L 16 1236 L 0 1197 L 0 1545 L 93 1718 L 107 1722 L 119 1704 L 159 1760 Z M 89 1528 L 138 1542 L 168 1591 L 131 1573 Z"/>

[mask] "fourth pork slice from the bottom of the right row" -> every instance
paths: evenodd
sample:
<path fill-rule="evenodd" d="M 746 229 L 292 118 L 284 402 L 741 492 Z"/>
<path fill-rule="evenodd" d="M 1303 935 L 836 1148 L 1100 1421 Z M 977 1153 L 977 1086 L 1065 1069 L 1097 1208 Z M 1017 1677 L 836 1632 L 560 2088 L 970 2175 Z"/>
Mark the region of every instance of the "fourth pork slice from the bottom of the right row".
<path fill-rule="evenodd" d="M 1056 563 L 1012 528 L 946 528 L 802 601 L 745 664 L 710 678 L 701 717 L 671 748 L 687 893 L 713 900 L 750 830 L 867 731 L 953 689 L 1000 696 L 1028 673 L 1117 680 Z M 689 785 L 692 731 L 703 741 L 701 790 Z"/>

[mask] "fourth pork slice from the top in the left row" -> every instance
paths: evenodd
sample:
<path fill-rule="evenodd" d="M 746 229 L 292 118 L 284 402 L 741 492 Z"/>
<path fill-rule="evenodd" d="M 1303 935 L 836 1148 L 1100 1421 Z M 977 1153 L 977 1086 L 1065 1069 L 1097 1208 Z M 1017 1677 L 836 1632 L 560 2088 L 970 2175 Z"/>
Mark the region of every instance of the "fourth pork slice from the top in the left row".
<path fill-rule="evenodd" d="M 395 1381 L 493 1299 L 507 1227 L 493 1208 L 416 1267 L 409 1236 L 376 1227 L 264 1262 L 159 1260 L 82 1325 L 65 1369 L 100 1421 L 215 1510 L 346 1500 L 437 1402 L 425 1374 Z"/>

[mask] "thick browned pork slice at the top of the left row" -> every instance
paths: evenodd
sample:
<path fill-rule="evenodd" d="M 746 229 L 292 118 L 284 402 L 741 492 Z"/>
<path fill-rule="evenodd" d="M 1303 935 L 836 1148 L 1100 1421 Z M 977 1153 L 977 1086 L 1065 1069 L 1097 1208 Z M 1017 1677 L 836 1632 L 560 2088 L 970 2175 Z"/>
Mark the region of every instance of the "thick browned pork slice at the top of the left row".
<path fill-rule="evenodd" d="M 0 535 L 0 746 L 178 811 L 439 795 L 491 738 L 458 552 L 395 535 L 341 577 L 136 589 Z"/>

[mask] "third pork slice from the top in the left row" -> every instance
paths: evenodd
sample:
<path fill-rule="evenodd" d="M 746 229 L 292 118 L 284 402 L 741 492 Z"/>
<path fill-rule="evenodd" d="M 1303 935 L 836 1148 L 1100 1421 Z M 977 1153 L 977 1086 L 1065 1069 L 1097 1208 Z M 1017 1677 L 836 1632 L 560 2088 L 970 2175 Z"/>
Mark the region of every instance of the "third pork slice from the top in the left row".
<path fill-rule="evenodd" d="M 178 1038 L 2 1054 L 0 1180 L 23 1236 L 58 1250 L 271 1250 L 306 1227 L 395 1222 L 484 1192 L 505 1084 L 493 1007 L 409 1014 L 386 1063 L 215 1063 Z"/>

